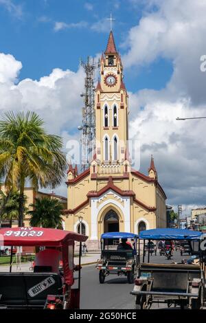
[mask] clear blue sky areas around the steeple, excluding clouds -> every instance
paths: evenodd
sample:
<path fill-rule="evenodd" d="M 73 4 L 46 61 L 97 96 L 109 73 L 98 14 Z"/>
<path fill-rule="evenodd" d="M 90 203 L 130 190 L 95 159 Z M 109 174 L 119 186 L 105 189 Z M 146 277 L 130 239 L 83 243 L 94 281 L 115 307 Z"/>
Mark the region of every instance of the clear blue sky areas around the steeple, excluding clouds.
<path fill-rule="evenodd" d="M 2 1 L 2 3 L 1 3 Z M 105 49 L 109 21 L 115 17 L 113 32 L 120 52 L 124 54 L 128 31 L 141 18 L 142 4 L 133 1 L 83 1 L 83 0 L 13 0 L 13 8 L 0 1 L 0 52 L 12 54 L 23 64 L 19 80 L 38 80 L 52 69 L 78 69 L 79 59 L 95 56 Z M 139 1 L 141 3 L 141 1 Z M 55 31 L 55 23 L 63 22 L 73 27 Z M 82 23 L 82 27 L 81 27 Z M 98 27 L 98 24 L 102 27 Z M 161 89 L 172 74 L 170 60 L 156 60 L 146 67 L 126 73 L 130 91 Z"/>

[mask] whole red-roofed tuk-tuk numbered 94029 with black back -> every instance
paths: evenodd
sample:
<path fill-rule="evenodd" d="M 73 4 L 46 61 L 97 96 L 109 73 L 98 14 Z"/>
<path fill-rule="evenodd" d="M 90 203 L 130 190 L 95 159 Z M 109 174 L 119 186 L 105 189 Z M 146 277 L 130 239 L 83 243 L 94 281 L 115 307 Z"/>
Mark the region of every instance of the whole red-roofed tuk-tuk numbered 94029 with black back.
<path fill-rule="evenodd" d="M 0 306 L 4 309 L 79 309 L 80 257 L 73 264 L 74 243 L 87 236 L 65 230 L 43 227 L 12 227 L 0 229 L 1 245 L 34 246 L 39 252 L 34 260 L 34 272 L 0 273 Z M 21 255 L 20 255 L 21 256 Z M 61 259 L 61 260 L 60 260 Z M 58 265 L 62 261 L 62 274 Z M 79 271 L 78 288 L 72 289 L 73 272 Z"/>

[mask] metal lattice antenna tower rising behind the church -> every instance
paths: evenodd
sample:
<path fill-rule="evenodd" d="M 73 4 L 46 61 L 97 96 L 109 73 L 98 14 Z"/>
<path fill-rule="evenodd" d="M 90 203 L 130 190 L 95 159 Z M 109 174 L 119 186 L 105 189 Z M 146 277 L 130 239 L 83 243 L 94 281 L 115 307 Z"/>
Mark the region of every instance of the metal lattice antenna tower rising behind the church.
<path fill-rule="evenodd" d="M 94 78 L 95 69 L 100 67 L 100 61 L 95 63 L 94 58 L 87 58 L 87 63 L 80 61 L 85 71 L 84 93 L 80 96 L 84 98 L 84 107 L 82 108 L 82 125 L 78 126 L 82 130 L 82 167 L 84 172 L 89 168 L 90 159 L 93 157 L 91 153 L 95 145 L 95 107 L 94 107 Z"/>

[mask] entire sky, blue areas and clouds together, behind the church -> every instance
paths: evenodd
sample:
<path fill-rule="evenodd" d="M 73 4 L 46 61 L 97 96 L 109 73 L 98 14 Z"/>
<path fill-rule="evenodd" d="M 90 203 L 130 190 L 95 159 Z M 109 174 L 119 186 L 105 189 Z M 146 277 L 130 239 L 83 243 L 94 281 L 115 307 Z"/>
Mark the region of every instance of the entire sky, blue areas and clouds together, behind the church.
<path fill-rule="evenodd" d="M 36 111 L 50 133 L 79 140 L 84 73 L 80 58 L 115 43 L 129 93 L 129 135 L 150 155 L 168 203 L 183 212 L 205 206 L 206 1 L 0 0 L 0 117 Z M 56 192 L 66 195 L 62 183 Z"/>

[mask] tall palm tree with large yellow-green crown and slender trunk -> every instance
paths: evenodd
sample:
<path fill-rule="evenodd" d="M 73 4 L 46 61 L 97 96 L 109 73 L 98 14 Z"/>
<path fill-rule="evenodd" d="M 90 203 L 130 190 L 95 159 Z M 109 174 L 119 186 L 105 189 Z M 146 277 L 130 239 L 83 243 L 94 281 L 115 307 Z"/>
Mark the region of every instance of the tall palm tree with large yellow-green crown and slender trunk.
<path fill-rule="evenodd" d="M 0 177 L 5 187 L 19 190 L 19 226 L 23 226 L 23 193 L 29 180 L 37 190 L 58 186 L 67 167 L 62 138 L 49 135 L 34 112 L 5 113 L 0 121 Z"/>

